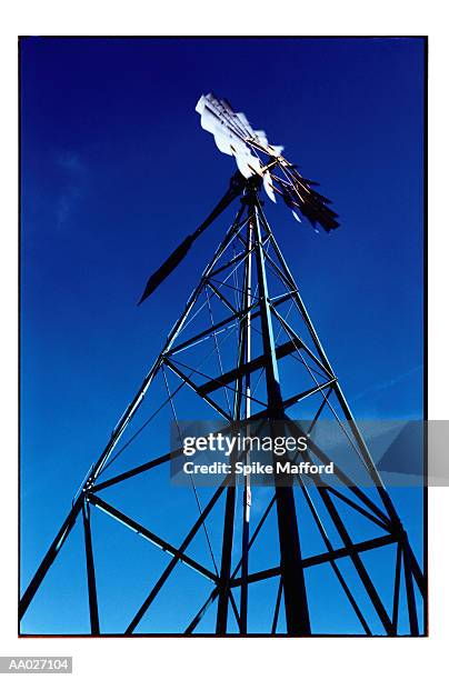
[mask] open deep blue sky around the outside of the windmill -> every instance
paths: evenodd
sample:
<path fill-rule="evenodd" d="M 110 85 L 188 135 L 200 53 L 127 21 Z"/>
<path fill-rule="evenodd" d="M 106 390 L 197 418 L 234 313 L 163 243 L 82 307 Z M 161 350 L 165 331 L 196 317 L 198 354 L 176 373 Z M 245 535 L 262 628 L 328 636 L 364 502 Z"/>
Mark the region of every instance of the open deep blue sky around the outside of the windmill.
<path fill-rule="evenodd" d="M 22 41 L 24 581 L 222 233 L 136 306 L 235 171 L 201 93 L 335 201 L 331 237 L 267 209 L 356 416 L 421 414 L 422 67 L 419 39 Z"/>

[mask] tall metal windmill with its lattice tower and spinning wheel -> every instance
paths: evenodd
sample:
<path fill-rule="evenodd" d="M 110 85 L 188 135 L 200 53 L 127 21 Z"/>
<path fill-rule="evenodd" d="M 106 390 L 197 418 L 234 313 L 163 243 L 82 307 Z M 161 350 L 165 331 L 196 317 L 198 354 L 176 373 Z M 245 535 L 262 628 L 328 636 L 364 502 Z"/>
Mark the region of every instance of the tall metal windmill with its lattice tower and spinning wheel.
<path fill-rule="evenodd" d="M 92 518 L 102 511 L 138 534 L 137 540 L 149 541 L 166 560 L 160 573 L 151 573 L 151 579 L 144 570 L 140 574 L 144 597 L 122 629 L 112 631 L 117 634 L 341 632 L 327 627 L 329 602 L 327 608 L 317 606 L 323 586 L 320 577 L 317 587 L 311 574 L 318 570 L 329 579 L 332 593 L 339 593 L 335 606 L 345 606 L 351 617 L 350 632 L 418 636 L 423 632 L 422 571 L 268 222 L 261 191 L 269 200 L 285 203 L 296 221 L 308 220 L 315 230 L 337 229 L 338 216 L 329 199 L 316 190 L 316 182 L 302 177 L 285 158 L 283 148 L 269 143 L 266 132 L 253 130 L 246 116 L 235 112 L 227 100 L 207 94 L 196 110 L 201 127 L 213 136 L 222 153 L 235 158 L 238 170 L 208 218 L 149 278 L 139 303 L 154 293 L 227 208 L 236 204 L 237 214 L 162 351 L 73 497 L 64 522 L 24 590 L 20 616 L 24 617 L 62 546 L 79 526 L 84 542 L 90 632 L 104 632 L 98 597 L 100 560 L 92 536 Z M 153 400 L 151 390 L 156 391 Z M 148 404 L 150 413 L 142 417 Z M 108 497 L 123 486 L 129 490 L 142 478 L 147 489 L 153 488 L 151 474 L 181 456 L 176 449 L 152 454 L 133 467 L 129 462 L 129 451 L 162 408 L 178 428 L 182 409 L 188 418 L 193 411 L 196 418 L 213 413 L 230 428 L 266 421 L 275 433 L 306 436 L 309 448 L 302 460 L 322 463 L 329 463 L 330 457 L 316 432 L 327 414 L 340 428 L 346 458 L 332 461 L 332 479 L 318 478 L 319 483 L 315 483 L 317 478 L 313 482 L 301 474 L 296 476 L 295 483 L 285 483 L 275 474 L 269 498 L 267 489 L 251 486 L 250 476 L 239 487 L 235 472 L 225 474 L 207 498 L 191 479 L 189 492 L 198 516 L 189 522 L 181 513 L 177 521 L 186 519 L 184 533 L 172 538 L 160 517 L 167 519 L 177 507 L 170 507 L 176 491 L 167 487 L 167 480 L 163 499 L 159 496 L 156 503 L 156 497 L 148 493 L 150 502 L 144 507 L 149 512 L 151 502 L 159 506 L 167 501 L 166 513 L 147 518 L 159 522 L 158 530 L 140 519 L 144 514 L 141 506 L 136 507 L 140 513 L 136 519 L 119 509 L 120 496 L 116 500 Z M 137 453 L 141 456 L 142 450 Z M 352 476 L 356 468 L 357 481 Z M 360 483 L 361 478 L 366 486 Z M 265 557 L 259 550 L 256 558 L 260 543 Z M 271 563 L 263 563 L 267 559 Z M 194 590 L 206 594 L 196 609 L 194 594 L 187 596 L 182 586 L 180 567 L 183 573 L 193 571 L 206 581 L 206 591 Z M 171 622 L 168 629 L 160 629 L 161 610 L 153 620 L 151 612 L 173 582 L 180 586 L 180 592 L 161 606 L 164 613 L 171 612 Z M 261 586 L 267 589 L 258 597 L 256 588 Z"/>

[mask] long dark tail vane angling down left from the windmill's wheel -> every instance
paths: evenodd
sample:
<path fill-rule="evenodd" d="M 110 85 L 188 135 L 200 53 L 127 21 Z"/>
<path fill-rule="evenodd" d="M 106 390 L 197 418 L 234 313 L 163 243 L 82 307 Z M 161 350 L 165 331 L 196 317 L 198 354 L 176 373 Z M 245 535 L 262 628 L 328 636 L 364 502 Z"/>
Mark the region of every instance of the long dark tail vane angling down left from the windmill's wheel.
<path fill-rule="evenodd" d="M 138 304 L 141 304 L 171 274 L 171 272 L 182 262 L 188 254 L 190 248 L 194 241 L 206 231 L 208 227 L 226 210 L 226 208 L 242 193 L 245 182 L 241 174 L 236 172 L 231 179 L 230 187 L 221 201 L 217 203 L 212 212 L 206 218 L 206 220 L 190 233 L 186 239 L 173 250 L 173 252 L 167 258 L 167 260 L 151 274 L 144 287 L 142 297 Z"/>

